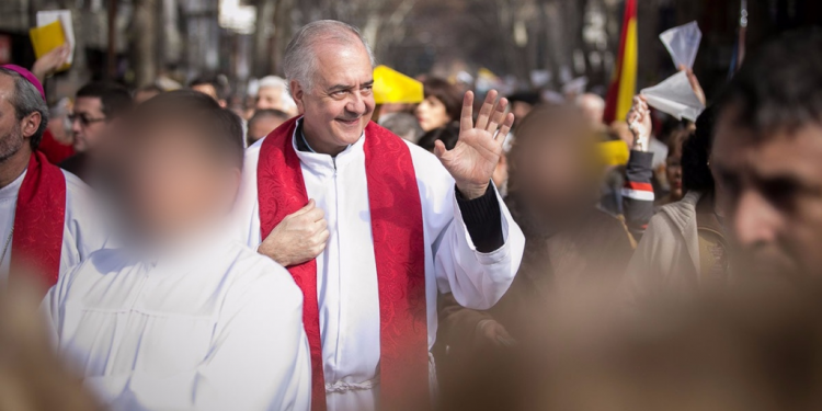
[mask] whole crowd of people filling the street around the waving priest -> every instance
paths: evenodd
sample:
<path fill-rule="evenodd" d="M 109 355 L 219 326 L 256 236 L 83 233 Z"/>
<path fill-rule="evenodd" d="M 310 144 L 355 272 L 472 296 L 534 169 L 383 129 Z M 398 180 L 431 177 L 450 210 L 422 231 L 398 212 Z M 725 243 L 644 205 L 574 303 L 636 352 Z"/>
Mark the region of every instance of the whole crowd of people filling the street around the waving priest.
<path fill-rule="evenodd" d="M 695 123 L 434 77 L 377 105 L 336 21 L 243 106 L 215 76 L 49 109 L 65 58 L 0 67 L 0 409 L 822 404 L 820 31 Z"/>

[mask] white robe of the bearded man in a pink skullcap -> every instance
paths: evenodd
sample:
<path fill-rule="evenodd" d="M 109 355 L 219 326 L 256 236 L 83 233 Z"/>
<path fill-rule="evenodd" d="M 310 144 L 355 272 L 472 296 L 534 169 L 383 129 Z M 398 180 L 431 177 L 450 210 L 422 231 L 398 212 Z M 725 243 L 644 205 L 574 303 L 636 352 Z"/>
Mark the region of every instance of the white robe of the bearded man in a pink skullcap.
<path fill-rule="evenodd" d="M 66 222 L 62 229 L 60 275 L 85 260 L 92 252 L 102 249 L 107 238 L 103 218 L 95 212 L 91 189 L 75 174 L 61 171 L 66 176 Z M 18 193 L 25 174 L 26 171 L 11 184 L 0 189 L 0 253 L 14 226 Z M 10 243 L 0 266 L 0 287 L 8 281 L 11 248 Z"/>

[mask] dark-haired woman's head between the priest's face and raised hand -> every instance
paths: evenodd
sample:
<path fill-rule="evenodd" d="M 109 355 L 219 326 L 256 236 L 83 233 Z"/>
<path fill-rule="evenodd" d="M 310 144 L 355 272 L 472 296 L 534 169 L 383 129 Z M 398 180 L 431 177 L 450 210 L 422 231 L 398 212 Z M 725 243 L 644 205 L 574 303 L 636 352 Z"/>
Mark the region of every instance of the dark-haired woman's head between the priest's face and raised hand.
<path fill-rule="evenodd" d="M 459 119 L 463 94 L 458 87 L 438 78 L 425 79 L 422 85 L 425 100 L 416 105 L 414 115 L 423 132 L 445 127 Z"/>

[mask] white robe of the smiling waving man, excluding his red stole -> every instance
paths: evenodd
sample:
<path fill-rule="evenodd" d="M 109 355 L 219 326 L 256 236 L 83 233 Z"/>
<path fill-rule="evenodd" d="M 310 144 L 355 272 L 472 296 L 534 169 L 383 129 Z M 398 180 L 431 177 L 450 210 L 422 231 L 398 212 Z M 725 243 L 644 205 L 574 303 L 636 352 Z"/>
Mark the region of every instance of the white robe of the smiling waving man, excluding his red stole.
<path fill-rule="evenodd" d="M 379 294 L 365 175 L 365 138 L 335 159 L 297 150 L 308 197 L 326 212 L 330 232 L 326 250 L 317 258 L 317 298 L 330 411 L 373 410 L 378 397 Z M 262 141 L 246 151 L 238 203 L 241 239 L 253 248 L 261 242 L 256 167 Z M 454 179 L 436 157 L 406 142 L 411 150 L 422 204 L 431 350 L 436 338 L 437 293 L 454 293 L 457 301 L 469 308 L 492 307 L 514 278 L 525 238 L 498 195 L 505 243 L 491 253 L 477 251 L 457 206 Z M 433 366 L 431 370 L 433 389 Z"/>

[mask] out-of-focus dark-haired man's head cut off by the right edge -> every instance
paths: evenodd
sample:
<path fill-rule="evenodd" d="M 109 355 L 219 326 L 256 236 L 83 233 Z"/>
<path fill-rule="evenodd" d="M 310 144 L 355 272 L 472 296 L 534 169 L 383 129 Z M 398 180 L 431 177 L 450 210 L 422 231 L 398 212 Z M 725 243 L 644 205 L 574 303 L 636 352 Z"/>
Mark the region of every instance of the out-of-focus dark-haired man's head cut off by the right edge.
<path fill-rule="evenodd" d="M 698 130 L 698 125 L 697 125 Z M 721 100 L 710 158 L 741 270 L 822 269 L 822 32 L 784 35 Z"/>

